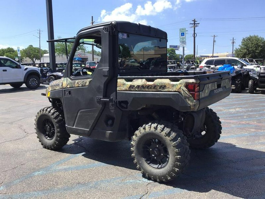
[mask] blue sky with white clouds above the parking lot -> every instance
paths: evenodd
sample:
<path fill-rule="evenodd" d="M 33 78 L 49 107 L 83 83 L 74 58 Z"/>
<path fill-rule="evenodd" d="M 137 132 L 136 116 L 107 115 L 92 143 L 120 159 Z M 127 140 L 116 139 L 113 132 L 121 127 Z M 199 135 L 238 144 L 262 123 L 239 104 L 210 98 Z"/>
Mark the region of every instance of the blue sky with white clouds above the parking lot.
<path fill-rule="evenodd" d="M 214 34 L 214 53 L 231 52 L 233 37 L 234 48 L 243 37 L 265 37 L 265 1 L 261 0 L 53 0 L 52 4 L 55 38 L 75 36 L 90 25 L 91 16 L 97 23 L 125 20 L 158 27 L 168 33 L 168 47 L 179 45 L 179 29 L 186 28 L 185 54 L 193 54 L 193 29 L 189 24 L 193 18 L 200 23 L 196 28 L 198 55 L 212 53 Z M 0 19 L 0 48 L 39 47 L 34 35 L 38 36 L 37 29 L 41 29 L 41 48 L 48 49 L 45 0 L 1 1 Z"/>

